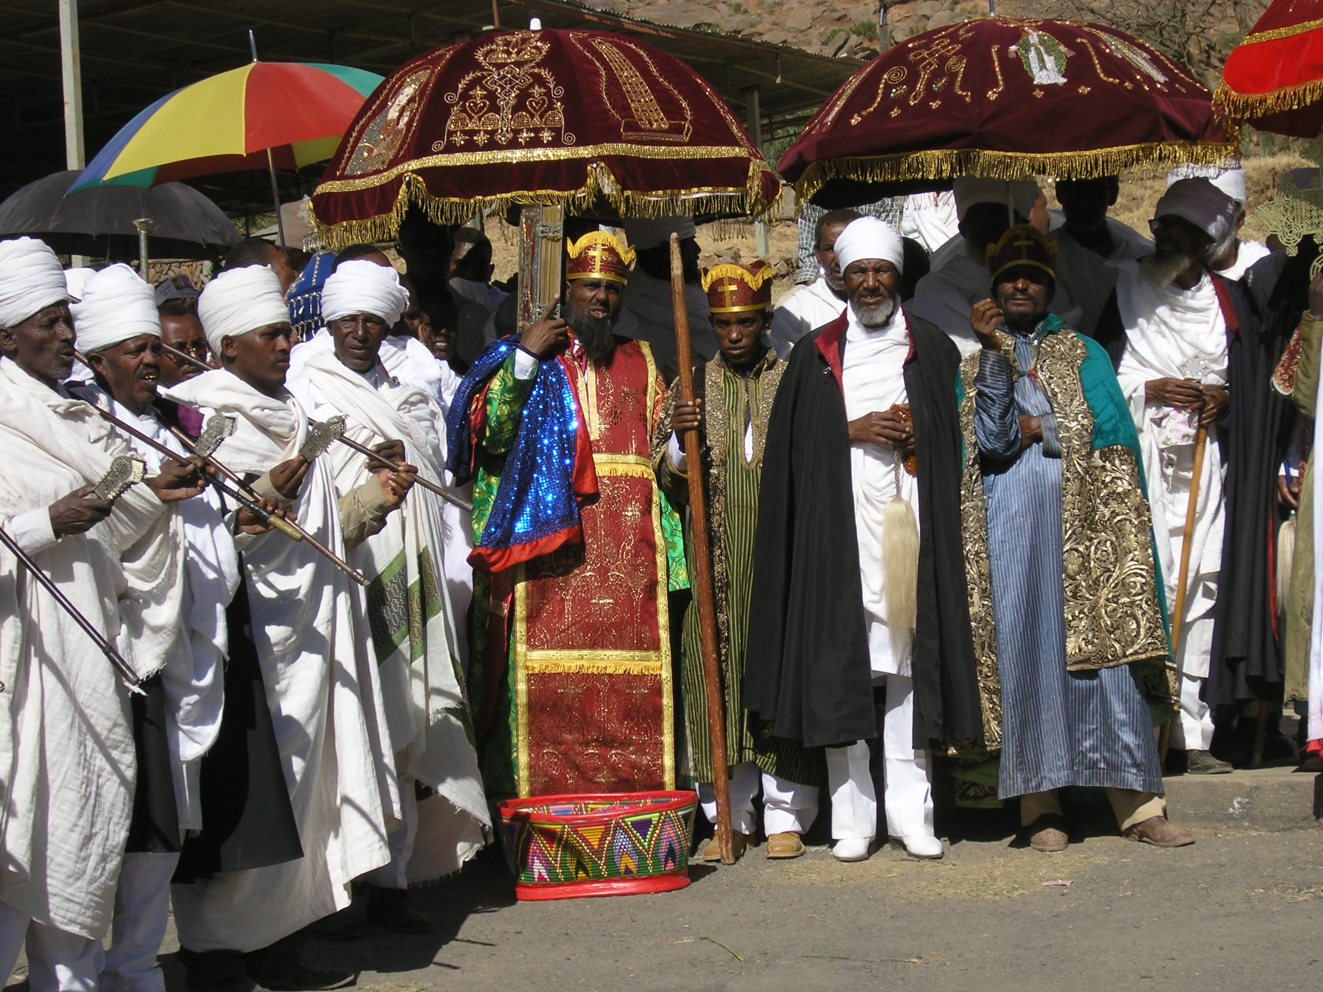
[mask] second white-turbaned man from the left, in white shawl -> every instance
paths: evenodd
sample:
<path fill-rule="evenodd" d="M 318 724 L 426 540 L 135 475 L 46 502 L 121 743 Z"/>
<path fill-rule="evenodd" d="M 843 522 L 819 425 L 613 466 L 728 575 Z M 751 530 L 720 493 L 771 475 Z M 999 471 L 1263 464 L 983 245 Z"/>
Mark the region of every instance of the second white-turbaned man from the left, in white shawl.
<path fill-rule="evenodd" d="M 111 266 L 89 280 L 71 310 L 79 349 L 97 377 L 77 394 L 184 458 L 169 431 L 173 403 L 156 394 L 163 362 L 152 287 L 128 266 Z M 132 438 L 131 444 L 148 466 L 160 464 L 156 448 Z M 165 989 L 156 954 L 169 915 L 169 880 L 181 831 L 202 827 L 200 762 L 216 742 L 225 700 L 225 610 L 238 587 L 234 540 L 214 488 L 173 512 L 183 558 L 180 630 L 160 677 L 132 700 L 138 799 L 115 890 L 112 940 L 98 979 L 102 992 Z"/>

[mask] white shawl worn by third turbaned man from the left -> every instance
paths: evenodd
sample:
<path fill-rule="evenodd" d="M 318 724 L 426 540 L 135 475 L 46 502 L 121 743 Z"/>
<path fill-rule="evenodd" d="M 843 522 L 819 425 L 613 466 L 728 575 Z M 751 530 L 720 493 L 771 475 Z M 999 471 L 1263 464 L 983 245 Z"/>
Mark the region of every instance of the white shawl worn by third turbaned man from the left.
<path fill-rule="evenodd" d="M 265 474 L 292 458 L 307 435 L 307 415 L 292 395 L 263 395 L 224 369 L 167 395 L 237 419 L 217 458 L 241 474 Z M 344 557 L 324 456 L 308 470 L 292 509 L 300 526 Z M 303 857 L 176 885 L 180 942 L 198 951 L 266 947 L 348 906 L 349 882 L 389 862 L 386 833 L 400 816 L 361 589 L 306 542 L 279 532 L 239 549 Z"/>

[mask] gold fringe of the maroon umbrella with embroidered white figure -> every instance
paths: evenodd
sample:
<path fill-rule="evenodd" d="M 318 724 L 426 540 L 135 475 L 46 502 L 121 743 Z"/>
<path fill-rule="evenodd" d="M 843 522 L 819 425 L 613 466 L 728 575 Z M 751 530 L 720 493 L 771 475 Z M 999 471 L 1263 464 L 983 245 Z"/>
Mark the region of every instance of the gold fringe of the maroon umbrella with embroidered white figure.
<path fill-rule="evenodd" d="M 1225 144 L 1201 142 L 1159 142 L 1098 148 L 1085 152 L 992 152 L 982 148 L 942 148 L 900 152 L 869 157 L 823 159 L 804 169 L 795 194 L 810 200 L 830 180 L 859 183 L 945 181 L 960 176 L 982 176 L 1015 181 L 1036 176 L 1057 179 L 1102 179 L 1122 169 L 1170 168 L 1197 164 L 1220 165 L 1238 155 L 1240 135 Z"/>

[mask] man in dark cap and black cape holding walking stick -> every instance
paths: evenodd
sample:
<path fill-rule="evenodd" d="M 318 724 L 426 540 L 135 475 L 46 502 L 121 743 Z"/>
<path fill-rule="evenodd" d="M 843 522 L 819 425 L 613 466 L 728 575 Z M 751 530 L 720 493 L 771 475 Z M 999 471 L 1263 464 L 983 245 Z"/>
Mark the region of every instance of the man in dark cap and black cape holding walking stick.
<path fill-rule="evenodd" d="M 1252 698 L 1281 681 L 1269 603 L 1277 455 L 1266 430 L 1274 398 L 1258 356 L 1258 321 L 1244 290 L 1211 271 L 1240 208 L 1207 179 L 1174 183 L 1154 209 L 1155 251 L 1118 263 L 1098 319 L 1144 455 L 1154 536 L 1175 608 L 1197 435 L 1207 443 L 1179 627 L 1180 714 L 1171 746 L 1193 774 L 1216 759 L 1211 704 Z M 1249 681 L 1259 682 L 1254 689 Z M 1207 682 L 1207 685 L 1205 685 Z"/>

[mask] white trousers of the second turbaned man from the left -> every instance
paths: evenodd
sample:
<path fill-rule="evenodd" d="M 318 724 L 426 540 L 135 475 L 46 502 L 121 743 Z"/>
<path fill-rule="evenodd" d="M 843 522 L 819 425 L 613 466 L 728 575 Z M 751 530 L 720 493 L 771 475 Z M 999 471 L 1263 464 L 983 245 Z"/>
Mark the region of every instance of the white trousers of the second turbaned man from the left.
<path fill-rule="evenodd" d="M 169 919 L 169 880 L 179 854 L 124 854 L 115 886 L 110 950 L 97 944 L 99 992 L 165 992 L 156 964 Z"/>

